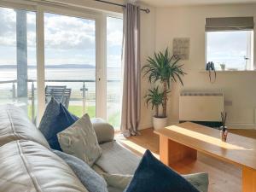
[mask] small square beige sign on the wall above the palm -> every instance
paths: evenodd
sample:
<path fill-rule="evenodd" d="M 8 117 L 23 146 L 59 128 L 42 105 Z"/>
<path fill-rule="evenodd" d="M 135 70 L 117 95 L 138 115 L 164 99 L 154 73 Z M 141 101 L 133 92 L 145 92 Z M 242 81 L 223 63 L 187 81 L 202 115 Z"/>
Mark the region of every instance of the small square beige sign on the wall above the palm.
<path fill-rule="evenodd" d="M 190 38 L 173 38 L 173 55 L 179 55 L 181 60 L 189 60 Z"/>

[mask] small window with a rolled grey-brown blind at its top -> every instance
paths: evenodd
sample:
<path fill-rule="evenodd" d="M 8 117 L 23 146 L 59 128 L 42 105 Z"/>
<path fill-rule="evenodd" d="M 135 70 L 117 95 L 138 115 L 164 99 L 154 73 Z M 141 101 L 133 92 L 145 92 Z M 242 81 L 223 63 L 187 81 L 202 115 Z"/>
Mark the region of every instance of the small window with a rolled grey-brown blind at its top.
<path fill-rule="evenodd" d="M 252 18 L 211 18 L 206 31 L 207 62 L 216 70 L 254 70 Z"/>

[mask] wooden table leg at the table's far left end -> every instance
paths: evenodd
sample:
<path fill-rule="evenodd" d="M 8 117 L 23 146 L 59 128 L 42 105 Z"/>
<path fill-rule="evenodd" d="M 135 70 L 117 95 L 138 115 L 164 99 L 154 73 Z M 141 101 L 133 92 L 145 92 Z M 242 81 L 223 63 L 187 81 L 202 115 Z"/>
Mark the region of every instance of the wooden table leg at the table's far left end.
<path fill-rule="evenodd" d="M 168 137 L 160 135 L 160 161 L 170 166 L 177 161 L 183 159 L 197 158 L 197 151 L 194 148 L 189 148 L 183 144 L 174 142 Z"/>

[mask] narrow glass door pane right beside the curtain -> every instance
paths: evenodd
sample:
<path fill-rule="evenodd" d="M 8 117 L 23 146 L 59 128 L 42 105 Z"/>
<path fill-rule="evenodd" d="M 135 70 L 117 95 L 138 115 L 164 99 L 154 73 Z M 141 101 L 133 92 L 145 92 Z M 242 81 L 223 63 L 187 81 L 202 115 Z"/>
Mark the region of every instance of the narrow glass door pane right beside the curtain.
<path fill-rule="evenodd" d="M 122 94 L 122 38 L 123 20 L 107 18 L 107 107 L 108 122 L 115 128 L 120 125 Z"/>

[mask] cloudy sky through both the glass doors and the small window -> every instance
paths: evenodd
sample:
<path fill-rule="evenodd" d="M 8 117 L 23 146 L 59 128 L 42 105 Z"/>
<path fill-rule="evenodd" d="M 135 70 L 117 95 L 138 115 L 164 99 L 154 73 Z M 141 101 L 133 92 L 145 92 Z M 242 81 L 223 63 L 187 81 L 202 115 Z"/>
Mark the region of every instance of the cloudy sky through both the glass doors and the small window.
<path fill-rule="evenodd" d="M 28 64 L 36 65 L 36 14 L 27 14 Z M 96 65 L 95 20 L 44 14 L 45 65 Z M 108 17 L 108 67 L 120 67 L 123 21 Z M 0 65 L 16 64 L 16 13 L 0 8 Z M 207 32 L 207 61 L 244 69 L 248 32 Z"/>

